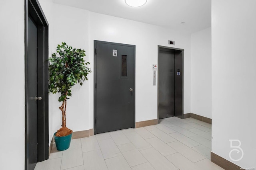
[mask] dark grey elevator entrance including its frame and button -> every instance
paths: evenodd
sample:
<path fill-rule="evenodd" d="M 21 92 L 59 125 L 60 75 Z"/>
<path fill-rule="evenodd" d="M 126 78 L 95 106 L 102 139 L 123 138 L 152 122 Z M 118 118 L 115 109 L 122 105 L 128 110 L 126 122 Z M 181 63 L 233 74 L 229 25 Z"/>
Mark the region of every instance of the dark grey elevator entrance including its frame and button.
<path fill-rule="evenodd" d="M 158 116 L 183 119 L 183 49 L 159 47 Z"/>

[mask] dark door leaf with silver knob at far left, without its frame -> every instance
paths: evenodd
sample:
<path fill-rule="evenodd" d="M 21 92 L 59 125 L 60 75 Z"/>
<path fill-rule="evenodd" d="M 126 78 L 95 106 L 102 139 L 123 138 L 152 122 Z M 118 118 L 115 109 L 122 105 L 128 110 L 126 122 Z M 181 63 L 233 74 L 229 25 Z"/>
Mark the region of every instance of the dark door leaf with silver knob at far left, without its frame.
<path fill-rule="evenodd" d="M 34 170 L 38 162 L 38 128 L 37 128 L 37 27 L 28 18 L 28 169 Z"/>

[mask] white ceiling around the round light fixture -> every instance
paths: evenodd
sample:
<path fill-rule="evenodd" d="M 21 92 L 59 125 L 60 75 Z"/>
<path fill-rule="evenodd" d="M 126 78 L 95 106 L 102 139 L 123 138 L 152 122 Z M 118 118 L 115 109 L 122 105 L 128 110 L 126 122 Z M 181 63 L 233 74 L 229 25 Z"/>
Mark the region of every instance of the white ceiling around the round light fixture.
<path fill-rule="evenodd" d="M 137 8 L 127 6 L 124 0 L 53 1 L 100 14 L 168 27 L 188 34 L 211 26 L 211 0 L 148 0 L 144 6 Z"/>

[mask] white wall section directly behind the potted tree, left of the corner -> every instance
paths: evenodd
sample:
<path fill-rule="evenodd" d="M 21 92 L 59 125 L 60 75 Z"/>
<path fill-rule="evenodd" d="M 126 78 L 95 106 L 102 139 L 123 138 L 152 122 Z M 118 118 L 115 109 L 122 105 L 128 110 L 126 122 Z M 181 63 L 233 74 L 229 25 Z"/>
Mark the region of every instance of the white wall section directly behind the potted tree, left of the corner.
<path fill-rule="evenodd" d="M 88 11 L 54 4 L 52 0 L 40 0 L 40 5 L 49 23 L 49 57 L 62 42 L 74 48 L 85 49 L 88 55 Z M 58 97 L 59 94 L 49 96 L 49 145 L 62 124 Z M 75 85 L 72 88 L 72 97 L 67 103 L 66 123 L 73 131 L 89 129 L 88 99 L 87 81 L 83 86 Z"/>

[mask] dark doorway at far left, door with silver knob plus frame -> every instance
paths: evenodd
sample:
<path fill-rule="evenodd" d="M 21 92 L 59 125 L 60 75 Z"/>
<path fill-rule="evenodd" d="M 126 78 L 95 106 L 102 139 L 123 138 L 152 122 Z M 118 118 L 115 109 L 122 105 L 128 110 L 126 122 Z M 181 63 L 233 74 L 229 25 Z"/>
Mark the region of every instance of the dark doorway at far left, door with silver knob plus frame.
<path fill-rule="evenodd" d="M 25 170 L 49 158 L 48 22 L 37 0 L 25 0 Z"/>

